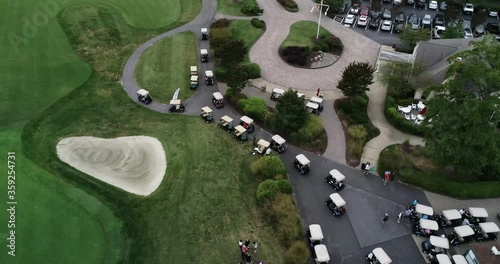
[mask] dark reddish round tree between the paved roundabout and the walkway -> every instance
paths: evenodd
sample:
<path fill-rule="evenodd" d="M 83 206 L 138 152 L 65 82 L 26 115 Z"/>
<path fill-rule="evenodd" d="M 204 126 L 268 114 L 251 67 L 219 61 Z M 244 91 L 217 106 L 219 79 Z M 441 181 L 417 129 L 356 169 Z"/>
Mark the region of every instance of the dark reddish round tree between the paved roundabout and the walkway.
<path fill-rule="evenodd" d="M 366 62 L 352 62 L 344 69 L 342 80 L 337 88 L 351 99 L 368 91 L 368 86 L 373 83 L 375 69 Z"/>

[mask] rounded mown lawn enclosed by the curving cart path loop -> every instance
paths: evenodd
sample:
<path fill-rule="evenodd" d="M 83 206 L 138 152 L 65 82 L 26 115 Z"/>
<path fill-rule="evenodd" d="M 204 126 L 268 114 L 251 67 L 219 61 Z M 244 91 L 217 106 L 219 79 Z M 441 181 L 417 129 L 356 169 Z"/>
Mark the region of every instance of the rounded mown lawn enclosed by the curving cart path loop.
<path fill-rule="evenodd" d="M 198 66 L 197 52 L 196 36 L 192 32 L 161 40 L 146 50 L 137 62 L 137 83 L 160 102 L 168 103 L 179 87 L 179 99 L 190 97 L 195 90 L 190 89 L 189 66 Z M 200 70 L 198 76 L 199 82 L 203 82 Z"/>

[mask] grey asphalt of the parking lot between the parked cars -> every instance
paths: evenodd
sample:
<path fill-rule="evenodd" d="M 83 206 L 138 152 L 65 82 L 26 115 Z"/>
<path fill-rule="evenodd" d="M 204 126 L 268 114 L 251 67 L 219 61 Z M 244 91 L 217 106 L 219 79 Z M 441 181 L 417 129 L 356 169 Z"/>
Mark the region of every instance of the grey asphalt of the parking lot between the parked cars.
<path fill-rule="evenodd" d="M 417 2 L 417 1 L 415 1 Z M 438 1 L 438 3 L 441 3 Z M 370 1 L 364 1 L 362 0 L 361 1 L 361 7 L 363 6 L 368 6 L 368 7 L 371 7 L 371 2 Z M 389 4 L 389 3 L 382 3 L 381 4 L 381 11 L 383 12 L 385 8 L 388 8 L 388 9 L 391 9 L 393 7 L 392 4 Z M 361 9 L 360 9 L 361 10 Z M 401 10 L 403 11 L 404 13 L 404 23 L 407 24 L 408 23 L 408 17 L 412 14 L 416 14 L 419 19 L 421 20 L 425 14 L 429 14 L 432 16 L 432 19 L 434 19 L 435 15 L 436 14 L 444 14 L 443 11 L 440 11 L 439 8 L 438 10 L 431 10 L 431 9 L 428 9 L 428 5 L 425 6 L 425 8 L 417 8 L 416 5 L 407 5 L 407 4 L 402 4 L 402 8 Z M 370 11 L 371 11 L 371 8 L 370 8 Z M 397 12 L 399 13 L 399 11 Z M 357 26 L 357 22 L 358 22 L 358 19 L 359 19 L 359 15 L 356 16 L 355 20 L 354 20 L 354 23 L 352 24 L 352 26 L 350 26 L 350 28 L 352 28 L 352 30 L 360 33 L 360 34 L 363 34 L 367 37 L 369 37 L 370 39 L 382 44 L 382 45 L 393 45 L 393 44 L 399 44 L 401 41 L 400 39 L 398 38 L 398 33 L 394 32 L 394 17 L 395 15 L 397 15 L 397 13 L 394 13 L 392 14 L 392 17 L 393 17 L 393 22 L 392 22 L 392 26 L 391 26 L 391 29 L 389 31 L 383 31 L 381 30 L 381 26 L 382 26 L 382 23 L 380 23 L 379 27 L 377 29 L 371 29 L 369 28 L 369 23 L 371 21 L 371 18 L 368 18 L 368 22 L 366 24 L 365 27 L 359 27 Z M 344 24 L 345 23 L 345 18 L 346 18 L 347 14 L 344 14 L 344 15 L 338 15 L 336 16 L 334 19 L 333 19 L 333 22 L 338 22 L 338 23 L 341 23 L 341 24 Z M 467 19 L 467 20 L 471 20 L 472 16 L 471 15 L 464 15 L 464 14 L 460 14 L 458 16 L 458 19 Z M 487 23 L 491 23 L 491 22 L 499 22 L 499 17 L 488 17 L 487 18 L 487 21 L 484 23 L 484 26 L 486 27 L 486 24 Z M 346 25 L 348 27 L 348 25 Z M 432 26 L 431 26 L 432 27 Z M 431 32 L 429 32 L 429 34 L 431 34 Z"/>

